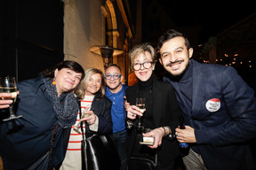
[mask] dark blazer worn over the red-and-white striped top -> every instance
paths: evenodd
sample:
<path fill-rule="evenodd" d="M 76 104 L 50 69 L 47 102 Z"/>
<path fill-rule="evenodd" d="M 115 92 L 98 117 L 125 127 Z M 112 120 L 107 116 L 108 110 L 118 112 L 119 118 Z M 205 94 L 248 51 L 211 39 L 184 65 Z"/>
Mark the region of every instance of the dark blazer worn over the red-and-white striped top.
<path fill-rule="evenodd" d="M 99 128 L 98 128 L 98 134 L 111 134 L 113 123 L 111 118 L 111 105 L 112 102 L 108 99 L 108 97 L 102 97 L 100 98 L 100 94 L 96 93 L 95 97 L 92 101 L 92 107 L 94 109 L 94 113 L 99 118 Z M 86 137 L 92 135 L 93 132 L 88 127 L 87 123 L 86 125 Z"/>

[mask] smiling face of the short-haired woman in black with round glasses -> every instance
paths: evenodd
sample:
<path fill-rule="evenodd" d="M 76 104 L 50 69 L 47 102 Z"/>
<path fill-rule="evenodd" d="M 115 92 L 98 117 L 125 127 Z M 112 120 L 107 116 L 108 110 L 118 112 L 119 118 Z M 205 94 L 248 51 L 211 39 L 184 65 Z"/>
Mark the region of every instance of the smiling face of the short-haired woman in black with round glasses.
<path fill-rule="evenodd" d="M 153 62 L 152 57 L 148 51 L 141 52 L 133 59 L 132 65 L 143 64 L 145 62 Z M 153 70 L 155 69 L 155 63 L 152 64 L 150 68 L 145 68 L 143 65 L 140 65 L 140 70 L 134 70 L 134 73 L 140 81 L 148 81 L 151 77 Z"/>

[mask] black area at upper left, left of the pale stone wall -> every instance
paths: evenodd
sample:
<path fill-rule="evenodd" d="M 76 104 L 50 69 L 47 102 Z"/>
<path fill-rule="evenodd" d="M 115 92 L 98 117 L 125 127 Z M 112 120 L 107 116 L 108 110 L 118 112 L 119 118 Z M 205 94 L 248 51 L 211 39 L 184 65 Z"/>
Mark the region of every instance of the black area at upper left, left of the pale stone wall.
<path fill-rule="evenodd" d="M 35 78 L 63 60 L 63 3 L 60 0 L 1 2 L 1 76 Z"/>

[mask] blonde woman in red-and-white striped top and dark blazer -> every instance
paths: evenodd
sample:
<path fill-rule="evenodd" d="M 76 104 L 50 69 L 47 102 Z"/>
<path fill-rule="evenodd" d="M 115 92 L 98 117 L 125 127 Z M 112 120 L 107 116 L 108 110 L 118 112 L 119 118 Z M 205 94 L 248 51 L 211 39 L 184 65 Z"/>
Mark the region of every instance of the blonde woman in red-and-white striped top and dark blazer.
<path fill-rule="evenodd" d="M 84 132 L 86 137 L 98 134 L 112 133 L 111 101 L 105 96 L 105 77 L 101 70 L 89 68 L 85 70 L 84 81 L 76 90 L 76 96 L 81 99 L 81 111 L 89 114 L 81 119 L 86 121 Z M 91 108 L 91 109 L 90 109 Z M 87 111 L 90 110 L 90 111 Z M 80 121 L 80 112 L 77 115 L 76 123 Z M 81 161 L 81 140 L 82 134 L 71 129 L 68 151 L 60 169 L 82 169 Z"/>

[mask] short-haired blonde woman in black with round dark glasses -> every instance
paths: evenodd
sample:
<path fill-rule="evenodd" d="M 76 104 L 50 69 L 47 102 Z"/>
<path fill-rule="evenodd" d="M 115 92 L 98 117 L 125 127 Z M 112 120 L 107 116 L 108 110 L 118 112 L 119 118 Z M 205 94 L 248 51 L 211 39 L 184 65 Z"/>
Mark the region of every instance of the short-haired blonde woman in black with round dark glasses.
<path fill-rule="evenodd" d="M 156 80 L 153 73 L 155 56 L 155 50 L 149 43 L 139 44 L 129 52 L 132 68 L 139 80 L 125 92 L 127 102 L 131 104 L 126 108 L 127 118 L 134 124 L 128 143 L 128 169 L 132 170 L 145 166 L 142 161 L 133 161 L 134 157 L 157 159 L 157 168 L 161 170 L 175 169 L 180 154 L 178 143 L 169 137 L 179 125 L 180 106 L 172 85 Z M 135 105 L 137 97 L 145 98 L 146 111 L 142 115 Z M 145 133 L 143 136 L 155 137 L 152 145 L 140 144 L 142 133 L 136 128 L 139 116 L 141 124 L 147 129 L 142 131 Z"/>

